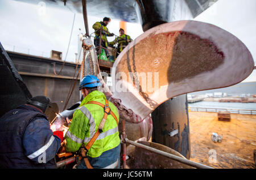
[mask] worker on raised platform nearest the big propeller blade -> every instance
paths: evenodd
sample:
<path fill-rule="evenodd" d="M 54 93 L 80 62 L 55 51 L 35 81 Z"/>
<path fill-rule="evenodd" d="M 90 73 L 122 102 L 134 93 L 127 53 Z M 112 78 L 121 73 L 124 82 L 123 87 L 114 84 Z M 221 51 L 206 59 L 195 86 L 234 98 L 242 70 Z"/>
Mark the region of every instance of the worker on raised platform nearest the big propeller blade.
<path fill-rule="evenodd" d="M 117 55 L 116 57 L 119 55 L 119 53 L 121 53 L 123 51 L 123 49 L 133 40 L 131 39 L 131 37 L 129 35 L 125 34 L 125 30 L 123 30 L 122 28 L 120 28 L 119 30 L 119 37 L 116 37 L 114 39 L 114 41 L 110 42 L 110 45 L 114 45 L 117 44 Z M 115 58 L 116 58 L 115 57 Z"/>

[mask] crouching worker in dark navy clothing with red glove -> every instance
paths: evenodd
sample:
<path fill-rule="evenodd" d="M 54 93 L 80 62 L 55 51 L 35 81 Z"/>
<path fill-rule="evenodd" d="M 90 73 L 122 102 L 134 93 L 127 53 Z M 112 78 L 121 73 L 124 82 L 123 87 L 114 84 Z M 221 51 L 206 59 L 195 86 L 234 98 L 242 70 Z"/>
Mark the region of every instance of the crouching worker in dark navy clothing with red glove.
<path fill-rule="evenodd" d="M 50 129 L 49 105 L 49 98 L 34 97 L 0 118 L 0 168 L 55 168 L 63 132 Z"/>

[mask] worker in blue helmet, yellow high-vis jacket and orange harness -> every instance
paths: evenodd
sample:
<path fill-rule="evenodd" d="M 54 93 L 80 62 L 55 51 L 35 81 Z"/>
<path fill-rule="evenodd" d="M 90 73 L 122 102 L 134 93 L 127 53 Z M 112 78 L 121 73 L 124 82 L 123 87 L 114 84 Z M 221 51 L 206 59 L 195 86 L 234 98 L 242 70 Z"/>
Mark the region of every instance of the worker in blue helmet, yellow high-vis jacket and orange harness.
<path fill-rule="evenodd" d="M 81 154 L 77 168 L 119 168 L 120 139 L 117 107 L 98 91 L 101 83 L 96 76 L 82 78 L 79 90 L 84 99 L 74 112 L 65 134 L 67 152 Z"/>

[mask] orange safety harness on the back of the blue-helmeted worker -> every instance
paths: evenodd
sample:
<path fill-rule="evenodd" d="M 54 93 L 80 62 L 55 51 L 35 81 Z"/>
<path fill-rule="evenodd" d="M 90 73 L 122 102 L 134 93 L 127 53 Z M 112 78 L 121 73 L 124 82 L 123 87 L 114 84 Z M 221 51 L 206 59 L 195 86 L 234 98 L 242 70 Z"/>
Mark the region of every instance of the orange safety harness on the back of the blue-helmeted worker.
<path fill-rule="evenodd" d="M 90 139 L 89 143 L 86 146 L 82 145 L 81 148 L 80 148 L 81 149 L 81 156 L 82 156 L 82 158 L 84 158 L 84 163 L 85 163 L 86 167 L 88 169 L 93 169 L 92 165 L 90 165 L 90 162 L 88 160 L 87 152 L 92 147 L 93 143 L 96 141 L 96 139 L 100 135 L 100 133 L 103 132 L 103 128 L 104 128 L 104 125 L 106 123 L 106 119 L 108 118 L 108 115 L 113 116 L 113 118 L 115 119 L 115 122 L 117 122 L 117 125 L 118 125 L 118 119 L 117 119 L 117 116 L 115 116 L 114 112 L 111 111 L 111 109 L 109 107 L 109 101 L 108 100 L 105 100 L 105 104 L 102 104 L 102 103 L 97 102 L 97 101 L 90 101 L 86 104 L 97 104 L 97 105 L 104 108 L 104 116 L 101 120 L 100 125 L 98 126 L 97 132 L 94 134 L 92 139 Z"/>

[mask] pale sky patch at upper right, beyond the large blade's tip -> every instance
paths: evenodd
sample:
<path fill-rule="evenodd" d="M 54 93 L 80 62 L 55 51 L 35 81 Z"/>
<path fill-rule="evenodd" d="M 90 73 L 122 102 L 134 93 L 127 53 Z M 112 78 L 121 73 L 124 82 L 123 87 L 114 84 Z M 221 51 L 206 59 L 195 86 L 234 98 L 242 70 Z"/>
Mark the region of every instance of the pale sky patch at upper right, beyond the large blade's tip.
<path fill-rule="evenodd" d="M 249 49 L 256 62 L 256 1 L 218 0 L 195 18 L 214 24 L 237 36 Z M 256 81 L 256 70 L 243 82 Z"/>

